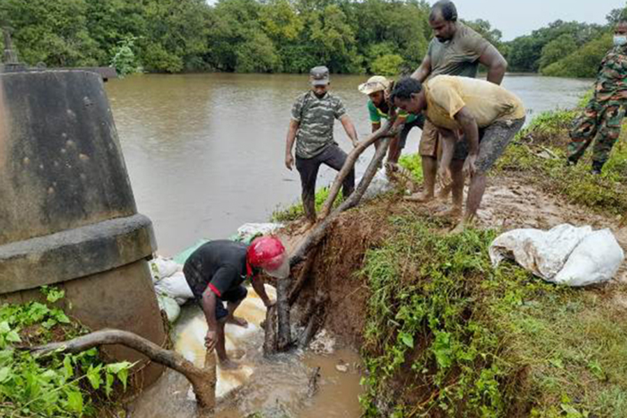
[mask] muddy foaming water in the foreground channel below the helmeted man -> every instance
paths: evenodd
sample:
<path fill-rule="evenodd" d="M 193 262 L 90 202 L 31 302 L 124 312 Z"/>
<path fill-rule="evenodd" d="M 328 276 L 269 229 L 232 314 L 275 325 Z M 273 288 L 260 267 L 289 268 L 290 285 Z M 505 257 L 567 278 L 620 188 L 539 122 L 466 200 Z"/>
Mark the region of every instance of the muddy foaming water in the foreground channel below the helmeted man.
<path fill-rule="evenodd" d="M 271 289 L 268 293 L 273 297 Z M 263 412 L 267 418 L 357 418 L 361 415 L 358 401 L 361 366 L 357 353 L 336 348 L 332 339 L 318 336 L 318 346 L 326 350 L 265 359 L 260 327 L 265 318 L 263 302 L 250 292 L 236 314 L 245 318 L 249 325 L 246 328 L 226 325 L 226 350 L 239 367 L 236 370 L 217 368 L 217 418 L 246 417 L 254 412 Z M 203 366 L 205 357 L 206 331 L 201 310 L 189 306 L 183 309 L 171 334 L 175 350 L 199 367 Z M 312 376 L 317 378 L 312 381 Z M 196 403 L 189 383 L 173 371 L 164 373 L 132 405 L 134 418 L 195 416 Z"/>

